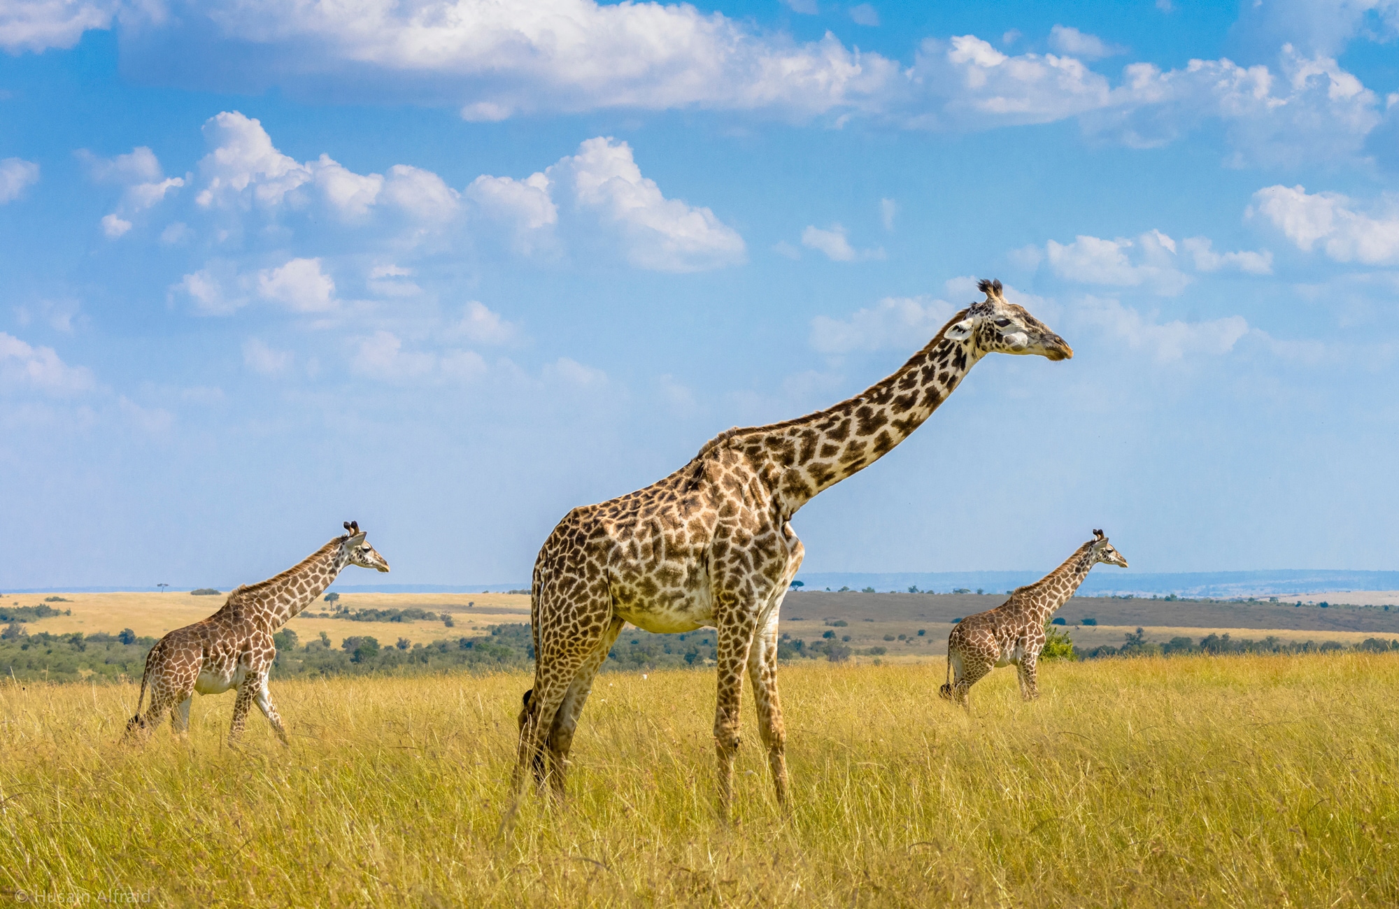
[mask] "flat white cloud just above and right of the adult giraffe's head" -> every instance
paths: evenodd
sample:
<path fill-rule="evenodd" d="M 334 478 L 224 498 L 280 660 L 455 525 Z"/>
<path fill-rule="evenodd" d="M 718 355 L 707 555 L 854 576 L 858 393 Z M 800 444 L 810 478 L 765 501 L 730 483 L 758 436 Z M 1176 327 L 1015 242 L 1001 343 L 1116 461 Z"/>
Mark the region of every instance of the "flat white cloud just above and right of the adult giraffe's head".
<path fill-rule="evenodd" d="M 1270 274 L 1273 255 L 1267 250 L 1214 252 L 1205 236 L 1191 236 L 1177 243 L 1161 231 L 1147 231 L 1136 238 L 1102 239 L 1079 235 L 1072 243 L 1045 243 L 1042 260 L 1060 278 L 1079 284 L 1143 287 L 1171 296 L 1191 282 L 1184 271 L 1193 264 L 1198 271 L 1233 269 L 1248 274 Z M 1017 250 L 1021 264 L 1037 264 L 1038 249 Z"/>

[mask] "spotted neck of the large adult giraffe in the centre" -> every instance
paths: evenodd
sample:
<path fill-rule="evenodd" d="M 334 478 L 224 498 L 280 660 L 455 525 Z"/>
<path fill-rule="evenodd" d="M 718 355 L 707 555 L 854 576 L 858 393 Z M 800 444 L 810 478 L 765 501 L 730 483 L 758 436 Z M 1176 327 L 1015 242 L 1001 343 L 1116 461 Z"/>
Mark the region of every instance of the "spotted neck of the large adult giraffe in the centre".
<path fill-rule="evenodd" d="M 965 317 L 965 309 L 958 312 L 894 375 L 855 397 L 761 427 L 761 435 L 734 435 L 732 445 L 758 454 L 776 474 L 771 480 L 783 519 L 891 452 L 947 400 L 981 358 L 971 343 L 944 337 L 949 326 Z"/>

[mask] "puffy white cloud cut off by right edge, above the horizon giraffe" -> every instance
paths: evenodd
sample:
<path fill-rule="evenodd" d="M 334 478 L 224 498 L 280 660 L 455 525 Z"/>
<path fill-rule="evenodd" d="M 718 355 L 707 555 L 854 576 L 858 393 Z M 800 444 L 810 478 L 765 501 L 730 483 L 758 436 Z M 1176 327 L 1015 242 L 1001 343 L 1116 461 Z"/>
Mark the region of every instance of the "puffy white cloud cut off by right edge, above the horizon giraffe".
<path fill-rule="evenodd" d="M 1340 193 L 1279 185 L 1254 193 L 1249 215 L 1266 218 L 1302 252 L 1319 245 L 1336 262 L 1399 264 L 1399 199 L 1384 199 L 1372 214 L 1358 208 Z"/>

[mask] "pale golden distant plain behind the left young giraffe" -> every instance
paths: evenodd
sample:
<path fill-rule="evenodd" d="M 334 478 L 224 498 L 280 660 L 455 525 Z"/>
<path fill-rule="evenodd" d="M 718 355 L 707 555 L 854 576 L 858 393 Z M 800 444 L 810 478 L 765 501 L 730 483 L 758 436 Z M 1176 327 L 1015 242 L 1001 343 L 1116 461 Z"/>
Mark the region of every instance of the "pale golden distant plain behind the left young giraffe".
<path fill-rule="evenodd" d="M 175 631 L 201 618 L 208 618 L 218 611 L 228 597 L 225 590 L 220 596 L 196 597 L 187 592 L 166 593 L 62 593 L 57 594 L 70 600 L 69 603 L 49 603 L 59 610 L 71 610 L 71 615 L 55 615 L 28 622 L 31 634 L 46 631 L 55 635 L 81 631 L 84 635 L 105 631 L 116 634 L 123 628 L 130 628 L 137 635 L 161 638 L 168 631 Z M 43 596 L 39 594 L 7 594 L 6 603 L 18 601 L 21 606 L 35 606 Z M 467 603 L 476 607 L 467 610 Z M 297 632 L 301 640 L 313 640 L 326 632 L 340 646 L 340 642 L 351 635 L 372 635 L 381 643 L 393 643 L 399 638 L 407 638 L 413 643 L 431 643 L 442 638 L 460 638 L 462 635 L 481 634 L 485 625 L 499 625 L 509 622 L 529 622 L 529 596 L 509 593 L 346 593 L 341 594 L 340 606 L 354 610 L 402 610 L 407 607 L 421 607 L 431 611 L 452 613 L 453 628 L 442 622 L 347 622 L 336 618 L 309 618 L 298 615 L 287 624 Z M 318 601 L 308 611 L 320 613 L 330 610 L 329 603 Z"/>

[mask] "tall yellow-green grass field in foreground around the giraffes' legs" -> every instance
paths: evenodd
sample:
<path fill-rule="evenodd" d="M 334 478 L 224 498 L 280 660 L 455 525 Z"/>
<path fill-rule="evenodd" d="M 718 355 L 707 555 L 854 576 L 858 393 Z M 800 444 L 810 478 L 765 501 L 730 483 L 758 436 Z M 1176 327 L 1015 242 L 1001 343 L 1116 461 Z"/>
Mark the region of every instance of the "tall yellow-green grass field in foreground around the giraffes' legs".
<path fill-rule="evenodd" d="M 712 811 L 709 671 L 604 677 L 574 797 L 495 839 L 520 674 L 274 680 L 187 745 L 116 744 L 134 685 L 0 688 L 0 891 L 169 905 L 1344 906 L 1399 902 L 1399 654 L 781 671 L 793 808 L 751 706 Z M 31 896 L 32 895 L 32 896 Z"/>

